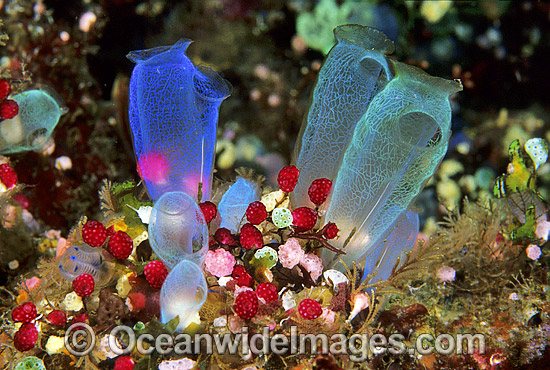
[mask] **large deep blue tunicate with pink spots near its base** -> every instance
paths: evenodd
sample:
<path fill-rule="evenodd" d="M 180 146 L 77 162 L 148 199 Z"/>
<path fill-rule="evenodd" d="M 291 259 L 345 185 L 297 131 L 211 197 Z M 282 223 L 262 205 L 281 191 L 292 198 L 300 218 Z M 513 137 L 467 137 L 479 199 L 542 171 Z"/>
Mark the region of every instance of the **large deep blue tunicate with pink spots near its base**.
<path fill-rule="evenodd" d="M 214 71 L 196 68 L 185 55 L 191 40 L 133 51 L 130 127 L 138 171 L 153 199 L 183 191 L 209 199 L 221 102 L 231 85 Z"/>

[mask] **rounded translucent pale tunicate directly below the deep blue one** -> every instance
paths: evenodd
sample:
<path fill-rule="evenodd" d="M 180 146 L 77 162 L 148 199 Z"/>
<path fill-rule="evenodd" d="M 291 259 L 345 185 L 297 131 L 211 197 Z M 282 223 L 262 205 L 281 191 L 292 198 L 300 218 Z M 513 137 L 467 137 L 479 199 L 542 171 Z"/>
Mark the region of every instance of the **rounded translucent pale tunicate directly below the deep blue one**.
<path fill-rule="evenodd" d="M 161 196 L 151 211 L 149 242 L 169 269 L 183 259 L 201 266 L 208 250 L 208 228 L 193 198 L 181 191 Z"/>

